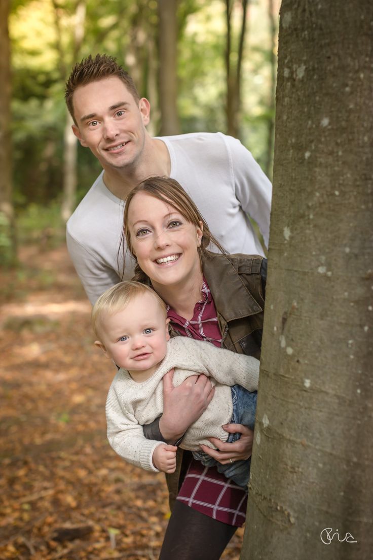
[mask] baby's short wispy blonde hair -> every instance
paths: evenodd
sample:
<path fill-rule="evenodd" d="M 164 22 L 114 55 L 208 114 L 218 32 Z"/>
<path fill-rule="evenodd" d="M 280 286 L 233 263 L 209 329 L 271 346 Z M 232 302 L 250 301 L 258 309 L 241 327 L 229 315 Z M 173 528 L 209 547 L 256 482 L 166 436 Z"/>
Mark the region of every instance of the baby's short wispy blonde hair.
<path fill-rule="evenodd" d="M 154 299 L 157 300 L 160 309 L 164 313 L 164 318 L 166 319 L 167 306 L 158 296 L 158 293 L 154 292 L 152 288 L 146 284 L 134 282 L 133 280 L 119 282 L 119 284 L 115 284 L 115 286 L 103 292 L 93 306 L 91 318 L 93 331 L 96 337 L 100 335 L 103 315 L 115 315 L 117 312 L 125 309 L 129 302 L 133 301 L 136 296 L 144 295 L 145 293 L 150 293 Z"/>

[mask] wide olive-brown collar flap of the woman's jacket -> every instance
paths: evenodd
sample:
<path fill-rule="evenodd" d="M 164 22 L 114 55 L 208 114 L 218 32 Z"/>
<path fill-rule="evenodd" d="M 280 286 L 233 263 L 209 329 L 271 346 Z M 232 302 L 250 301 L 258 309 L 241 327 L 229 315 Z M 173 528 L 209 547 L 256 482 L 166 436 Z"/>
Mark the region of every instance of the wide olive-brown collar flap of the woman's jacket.
<path fill-rule="evenodd" d="M 248 259 L 244 255 L 241 259 Z M 240 259 L 240 260 L 241 260 Z M 242 282 L 234 268 L 231 256 L 211 253 L 202 254 L 202 270 L 213 296 L 216 310 L 226 321 L 242 319 L 262 311 L 262 307 L 254 299 L 248 288 Z"/>

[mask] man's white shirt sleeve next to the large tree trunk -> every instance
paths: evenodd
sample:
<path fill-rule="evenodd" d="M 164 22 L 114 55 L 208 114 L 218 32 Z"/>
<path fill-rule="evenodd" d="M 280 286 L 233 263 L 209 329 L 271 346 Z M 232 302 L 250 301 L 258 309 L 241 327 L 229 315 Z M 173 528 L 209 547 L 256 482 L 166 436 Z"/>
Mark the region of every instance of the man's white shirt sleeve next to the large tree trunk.
<path fill-rule="evenodd" d="M 225 136 L 235 195 L 243 209 L 258 224 L 266 247 L 270 237 L 272 184 L 252 153 L 236 138 Z"/>

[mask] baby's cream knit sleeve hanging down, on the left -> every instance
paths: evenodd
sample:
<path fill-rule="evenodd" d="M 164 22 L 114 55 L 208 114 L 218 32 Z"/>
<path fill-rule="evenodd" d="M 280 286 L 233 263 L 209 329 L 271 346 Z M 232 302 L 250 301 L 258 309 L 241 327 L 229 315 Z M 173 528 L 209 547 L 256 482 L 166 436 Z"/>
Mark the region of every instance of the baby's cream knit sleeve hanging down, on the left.
<path fill-rule="evenodd" d="M 107 438 L 114 451 L 128 463 L 158 473 L 153 465 L 153 452 L 163 441 L 147 440 L 143 427 L 125 409 L 115 379 L 106 399 Z"/>

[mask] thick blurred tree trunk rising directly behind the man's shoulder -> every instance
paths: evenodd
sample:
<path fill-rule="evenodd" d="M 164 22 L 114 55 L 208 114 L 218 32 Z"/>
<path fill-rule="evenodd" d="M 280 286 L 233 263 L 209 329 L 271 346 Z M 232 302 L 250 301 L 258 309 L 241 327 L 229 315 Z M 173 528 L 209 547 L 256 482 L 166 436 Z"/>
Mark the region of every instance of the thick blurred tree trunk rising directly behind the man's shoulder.
<path fill-rule="evenodd" d="M 160 134 L 178 134 L 177 0 L 158 0 Z"/>

